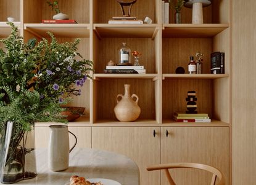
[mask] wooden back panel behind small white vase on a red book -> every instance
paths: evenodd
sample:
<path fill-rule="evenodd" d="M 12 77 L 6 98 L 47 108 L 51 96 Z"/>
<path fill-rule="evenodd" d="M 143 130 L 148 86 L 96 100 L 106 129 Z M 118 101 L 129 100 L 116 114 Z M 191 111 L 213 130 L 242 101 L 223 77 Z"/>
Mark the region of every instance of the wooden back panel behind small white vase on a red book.
<path fill-rule="evenodd" d="M 39 11 L 38 6 L 41 7 Z M 42 19 L 52 19 L 52 16 L 56 14 L 44 0 L 25 0 L 24 7 L 25 23 L 41 23 Z M 70 19 L 75 19 L 78 23 L 89 23 L 89 0 L 59 0 L 59 9 L 60 12 L 67 14 Z"/>

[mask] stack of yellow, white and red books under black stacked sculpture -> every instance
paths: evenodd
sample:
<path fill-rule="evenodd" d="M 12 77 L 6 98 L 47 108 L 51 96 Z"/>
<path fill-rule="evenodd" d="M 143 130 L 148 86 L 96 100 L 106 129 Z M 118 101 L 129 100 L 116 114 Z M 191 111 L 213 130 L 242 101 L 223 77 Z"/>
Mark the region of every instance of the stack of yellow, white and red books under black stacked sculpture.
<path fill-rule="evenodd" d="M 186 114 L 174 112 L 173 119 L 176 122 L 211 122 L 211 119 L 207 113 Z"/>

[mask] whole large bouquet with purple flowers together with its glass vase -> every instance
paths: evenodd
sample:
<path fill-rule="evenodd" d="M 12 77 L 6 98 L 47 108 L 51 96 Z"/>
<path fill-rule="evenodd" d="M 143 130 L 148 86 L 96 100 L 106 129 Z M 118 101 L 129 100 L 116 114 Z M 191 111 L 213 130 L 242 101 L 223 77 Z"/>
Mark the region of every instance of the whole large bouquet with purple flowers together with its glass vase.
<path fill-rule="evenodd" d="M 33 164 L 33 147 L 27 147 L 27 132 L 30 134 L 35 122 L 67 122 L 60 105 L 80 95 L 73 84 L 83 85 L 92 62 L 76 52 L 79 40 L 57 43 L 43 38 L 23 42 L 14 23 L 11 34 L 0 42 L 0 181 L 11 184 L 24 179 L 34 178 L 36 168 L 25 167 Z M 59 55 L 58 53 L 62 53 Z M 77 60 L 78 59 L 78 60 Z M 65 98 L 67 97 L 67 98 Z M 15 156 L 15 157 L 14 157 Z M 22 163 L 20 163 L 22 161 Z M 33 165 L 30 165 L 33 166 Z"/>

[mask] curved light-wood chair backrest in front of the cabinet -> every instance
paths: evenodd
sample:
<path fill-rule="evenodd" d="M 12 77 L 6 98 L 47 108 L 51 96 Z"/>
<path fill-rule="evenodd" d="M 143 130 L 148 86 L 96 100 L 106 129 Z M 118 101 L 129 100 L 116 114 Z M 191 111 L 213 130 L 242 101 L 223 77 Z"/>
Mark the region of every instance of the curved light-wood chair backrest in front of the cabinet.
<path fill-rule="evenodd" d="M 204 165 L 200 163 L 165 163 L 165 164 L 159 164 L 159 165 L 152 165 L 150 167 L 147 167 L 147 170 L 148 171 L 165 170 L 165 175 L 167 176 L 169 184 L 176 185 L 173 179 L 171 178 L 170 171 L 168 170 L 173 168 L 196 168 L 196 169 L 206 170 L 213 173 L 211 185 L 225 185 L 225 179 L 220 170 L 218 170 L 217 168 L 211 167 L 209 165 Z M 216 184 L 217 177 L 220 180 L 218 184 Z"/>

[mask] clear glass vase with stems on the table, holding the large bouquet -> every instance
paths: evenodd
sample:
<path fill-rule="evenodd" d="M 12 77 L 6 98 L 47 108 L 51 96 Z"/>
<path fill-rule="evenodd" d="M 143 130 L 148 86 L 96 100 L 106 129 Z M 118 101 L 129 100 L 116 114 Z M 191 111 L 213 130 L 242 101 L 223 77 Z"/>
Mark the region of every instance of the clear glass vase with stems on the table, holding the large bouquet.
<path fill-rule="evenodd" d="M 0 127 L 0 182 L 12 184 L 36 177 L 35 140 L 19 124 L 7 122 Z"/>

